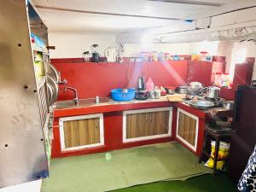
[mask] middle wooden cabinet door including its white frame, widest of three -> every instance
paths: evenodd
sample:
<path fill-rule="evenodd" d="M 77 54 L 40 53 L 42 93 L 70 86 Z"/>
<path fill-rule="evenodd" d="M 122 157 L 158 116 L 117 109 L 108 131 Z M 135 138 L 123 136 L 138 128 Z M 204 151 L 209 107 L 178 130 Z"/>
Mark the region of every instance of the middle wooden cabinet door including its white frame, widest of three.
<path fill-rule="evenodd" d="M 123 113 L 123 142 L 171 137 L 172 108 L 148 108 Z"/>

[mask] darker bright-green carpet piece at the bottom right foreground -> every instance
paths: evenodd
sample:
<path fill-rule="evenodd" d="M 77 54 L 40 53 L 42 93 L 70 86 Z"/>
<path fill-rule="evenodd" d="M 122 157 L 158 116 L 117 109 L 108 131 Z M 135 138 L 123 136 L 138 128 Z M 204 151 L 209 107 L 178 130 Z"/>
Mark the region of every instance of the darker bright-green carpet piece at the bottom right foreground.
<path fill-rule="evenodd" d="M 186 181 L 156 182 L 113 190 L 111 192 L 239 192 L 236 185 L 224 175 L 206 174 Z"/>

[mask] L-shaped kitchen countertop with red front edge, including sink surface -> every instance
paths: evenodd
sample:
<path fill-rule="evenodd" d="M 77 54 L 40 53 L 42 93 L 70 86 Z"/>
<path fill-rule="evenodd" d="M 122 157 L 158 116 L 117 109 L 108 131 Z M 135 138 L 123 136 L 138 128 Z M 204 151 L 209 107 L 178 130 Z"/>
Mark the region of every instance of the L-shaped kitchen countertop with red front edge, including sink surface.
<path fill-rule="evenodd" d="M 160 96 L 159 99 L 147 99 L 147 100 L 132 100 L 127 102 L 116 102 L 111 98 L 100 98 L 100 103 L 95 102 L 95 98 L 81 99 L 79 103 L 75 105 L 72 100 L 55 102 L 54 115 L 55 118 L 83 115 L 90 113 L 111 113 L 120 112 L 125 110 L 140 109 L 140 108 L 165 108 L 165 107 L 177 107 L 183 110 L 195 114 L 201 119 L 205 119 L 207 115 L 213 115 L 218 113 L 220 115 L 231 115 L 232 111 L 224 108 L 210 108 L 207 110 L 199 110 L 189 107 L 185 102 L 169 102 L 167 96 Z"/>

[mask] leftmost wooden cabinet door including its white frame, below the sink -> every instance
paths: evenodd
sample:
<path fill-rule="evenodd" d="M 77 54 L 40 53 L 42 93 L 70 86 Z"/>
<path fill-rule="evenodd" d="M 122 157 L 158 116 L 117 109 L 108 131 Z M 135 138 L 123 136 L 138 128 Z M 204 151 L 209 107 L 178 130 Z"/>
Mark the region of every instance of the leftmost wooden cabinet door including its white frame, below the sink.
<path fill-rule="evenodd" d="M 103 115 L 91 114 L 61 118 L 60 137 L 62 151 L 103 145 Z"/>

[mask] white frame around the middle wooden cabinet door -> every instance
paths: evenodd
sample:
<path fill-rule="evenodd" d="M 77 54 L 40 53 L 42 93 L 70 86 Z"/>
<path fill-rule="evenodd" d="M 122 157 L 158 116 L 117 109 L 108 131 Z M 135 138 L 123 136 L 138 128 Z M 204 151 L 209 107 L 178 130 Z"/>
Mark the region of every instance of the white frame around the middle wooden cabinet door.
<path fill-rule="evenodd" d="M 154 136 L 146 136 L 146 137 L 136 137 L 136 138 L 126 138 L 126 115 L 127 114 L 134 114 L 134 113 L 150 113 L 150 112 L 159 112 L 159 111 L 169 111 L 169 128 L 167 134 L 160 134 Z M 145 108 L 145 109 L 138 109 L 138 110 L 130 110 L 123 112 L 123 143 L 129 142 L 137 142 L 143 140 L 149 140 L 154 138 L 160 137 L 172 137 L 172 107 L 169 108 Z"/>

